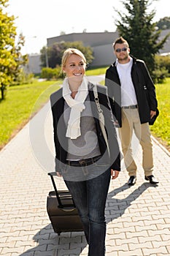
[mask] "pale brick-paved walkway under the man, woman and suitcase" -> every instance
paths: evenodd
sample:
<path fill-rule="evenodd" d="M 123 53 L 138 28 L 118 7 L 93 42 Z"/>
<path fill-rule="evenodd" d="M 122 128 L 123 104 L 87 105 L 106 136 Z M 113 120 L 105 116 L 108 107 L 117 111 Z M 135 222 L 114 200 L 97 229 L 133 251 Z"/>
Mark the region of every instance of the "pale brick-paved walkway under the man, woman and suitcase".
<path fill-rule="evenodd" d="M 123 167 L 110 184 L 106 256 L 170 255 L 170 154 L 154 138 L 152 143 L 158 186 L 144 181 L 141 148 L 135 139 L 137 183 L 128 187 Z M 47 194 L 53 190 L 47 173 L 53 171 L 53 158 L 53 125 L 47 103 L 0 152 L 0 255 L 87 255 L 82 232 L 58 236 L 47 216 Z M 56 182 L 59 189 L 65 188 L 62 178 Z"/>

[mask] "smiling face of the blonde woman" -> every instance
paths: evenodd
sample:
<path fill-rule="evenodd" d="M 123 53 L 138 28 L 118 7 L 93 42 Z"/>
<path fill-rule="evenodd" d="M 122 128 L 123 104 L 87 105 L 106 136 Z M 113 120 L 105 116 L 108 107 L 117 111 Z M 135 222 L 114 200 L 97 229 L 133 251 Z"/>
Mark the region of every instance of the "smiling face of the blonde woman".
<path fill-rule="evenodd" d="M 78 55 L 72 54 L 66 61 L 63 71 L 66 72 L 67 78 L 73 80 L 82 80 L 85 75 L 85 61 Z"/>

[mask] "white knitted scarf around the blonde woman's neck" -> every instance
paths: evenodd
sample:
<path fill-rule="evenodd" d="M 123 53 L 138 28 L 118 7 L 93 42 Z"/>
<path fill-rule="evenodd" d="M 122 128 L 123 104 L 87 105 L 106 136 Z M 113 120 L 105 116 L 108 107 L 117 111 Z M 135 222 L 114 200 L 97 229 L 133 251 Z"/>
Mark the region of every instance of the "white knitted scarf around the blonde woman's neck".
<path fill-rule="evenodd" d="M 80 115 L 82 110 L 85 110 L 85 99 L 88 95 L 88 80 L 83 77 L 82 83 L 73 99 L 72 91 L 69 89 L 68 78 L 63 80 L 63 98 L 71 108 L 69 122 L 66 130 L 66 137 L 76 139 L 81 135 L 80 131 Z"/>

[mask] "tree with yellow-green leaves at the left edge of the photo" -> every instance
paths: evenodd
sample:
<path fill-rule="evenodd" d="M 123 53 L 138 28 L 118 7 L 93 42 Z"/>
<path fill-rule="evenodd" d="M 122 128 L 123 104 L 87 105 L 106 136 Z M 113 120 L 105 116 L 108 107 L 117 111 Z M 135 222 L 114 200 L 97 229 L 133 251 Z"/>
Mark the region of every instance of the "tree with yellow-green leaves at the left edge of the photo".
<path fill-rule="evenodd" d="M 24 37 L 20 35 L 15 47 L 17 36 L 14 25 L 15 17 L 4 12 L 8 0 L 0 0 L 0 88 L 1 98 L 4 99 L 7 86 L 19 74 L 20 65 L 26 62 L 26 56 L 21 55 L 20 47 L 24 44 Z"/>

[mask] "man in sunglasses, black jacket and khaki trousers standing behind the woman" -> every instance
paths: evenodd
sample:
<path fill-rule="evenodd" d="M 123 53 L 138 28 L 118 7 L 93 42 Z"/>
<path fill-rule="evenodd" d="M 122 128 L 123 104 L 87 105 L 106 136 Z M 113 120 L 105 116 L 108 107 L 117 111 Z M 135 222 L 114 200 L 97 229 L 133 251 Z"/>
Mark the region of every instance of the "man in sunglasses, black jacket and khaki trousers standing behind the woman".
<path fill-rule="evenodd" d="M 128 185 L 136 183 L 136 163 L 132 156 L 133 131 L 142 146 L 142 167 L 144 178 L 157 184 L 153 171 L 152 142 L 149 121 L 156 115 L 158 102 L 155 86 L 144 61 L 130 56 L 128 42 L 119 37 L 113 43 L 117 57 L 106 72 L 105 85 L 108 88 L 112 113 L 120 127 L 125 167 L 128 170 Z"/>

